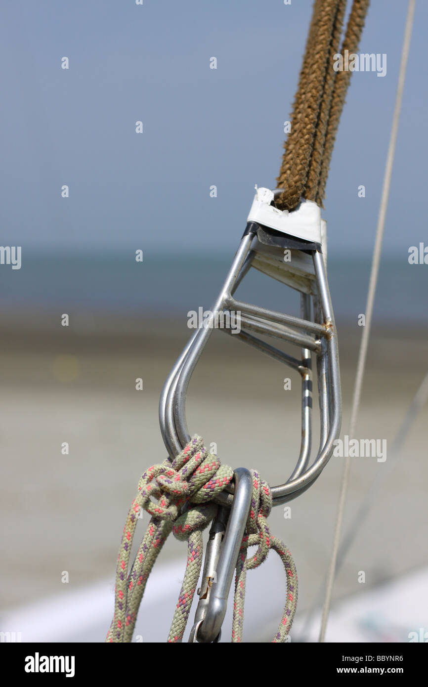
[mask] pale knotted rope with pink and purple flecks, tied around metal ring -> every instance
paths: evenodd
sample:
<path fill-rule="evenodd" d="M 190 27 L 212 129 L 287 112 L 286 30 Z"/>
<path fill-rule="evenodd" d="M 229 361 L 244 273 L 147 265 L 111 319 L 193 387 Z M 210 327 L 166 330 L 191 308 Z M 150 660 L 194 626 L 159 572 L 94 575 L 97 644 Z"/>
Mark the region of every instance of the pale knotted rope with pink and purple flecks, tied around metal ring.
<path fill-rule="evenodd" d="M 178 539 L 188 540 L 185 575 L 168 635 L 168 642 L 181 642 L 201 573 L 202 532 L 217 512 L 212 499 L 232 481 L 233 475 L 232 468 L 221 465 L 215 455 L 208 453 L 199 436 L 192 437 L 172 463 L 167 460 L 153 465 L 142 475 L 126 518 L 117 557 L 115 612 L 107 642 L 131 642 L 148 576 L 171 531 Z M 246 572 L 258 567 L 271 548 L 280 555 L 287 576 L 284 613 L 273 638 L 273 642 L 284 642 L 297 603 L 297 574 L 290 552 L 269 532 L 266 520 L 272 506 L 269 486 L 255 471 L 251 471 L 251 476 L 253 499 L 237 566 L 232 642 L 240 642 L 242 638 Z M 128 574 L 133 537 L 142 510 L 152 517 Z M 251 545 L 258 545 L 258 550 L 246 560 L 245 551 Z"/>

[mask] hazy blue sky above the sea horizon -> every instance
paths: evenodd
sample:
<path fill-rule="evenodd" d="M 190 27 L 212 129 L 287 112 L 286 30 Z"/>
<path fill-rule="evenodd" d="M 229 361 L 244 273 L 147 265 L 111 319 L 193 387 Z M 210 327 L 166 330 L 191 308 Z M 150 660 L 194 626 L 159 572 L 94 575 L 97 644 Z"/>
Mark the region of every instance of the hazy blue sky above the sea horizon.
<path fill-rule="evenodd" d="M 254 184 L 275 184 L 311 8 L 3 0 L 1 243 L 234 249 Z M 371 3 L 360 51 L 386 53 L 387 74 L 352 76 L 327 187 L 330 254 L 372 248 L 406 9 Z M 385 233 L 385 251 L 405 255 L 428 234 L 427 25 L 419 0 Z"/>

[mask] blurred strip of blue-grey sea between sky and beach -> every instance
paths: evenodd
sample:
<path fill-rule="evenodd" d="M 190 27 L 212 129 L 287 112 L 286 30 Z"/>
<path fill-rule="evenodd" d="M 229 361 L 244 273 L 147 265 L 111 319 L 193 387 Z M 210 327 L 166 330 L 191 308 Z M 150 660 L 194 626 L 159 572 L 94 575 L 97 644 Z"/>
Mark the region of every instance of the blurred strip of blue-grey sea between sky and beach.
<path fill-rule="evenodd" d="M 0 308 L 108 311 L 181 317 L 199 306 L 210 308 L 232 256 L 144 254 L 25 254 L 22 267 L 0 269 Z M 328 282 L 337 319 L 356 321 L 365 311 L 371 256 L 330 256 Z M 405 321 L 427 326 L 428 266 L 407 256 L 383 256 L 374 304 L 378 322 Z M 298 295 L 256 270 L 238 295 L 269 308 L 298 314 Z"/>

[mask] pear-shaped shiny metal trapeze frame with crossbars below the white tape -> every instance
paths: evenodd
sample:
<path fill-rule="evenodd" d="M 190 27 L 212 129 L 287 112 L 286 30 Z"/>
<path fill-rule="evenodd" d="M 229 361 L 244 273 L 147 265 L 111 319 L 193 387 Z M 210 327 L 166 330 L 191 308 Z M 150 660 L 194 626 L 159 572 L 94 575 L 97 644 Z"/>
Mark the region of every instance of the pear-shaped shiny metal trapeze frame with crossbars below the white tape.
<path fill-rule="evenodd" d="M 295 469 L 289 479 L 271 488 L 273 505 L 278 506 L 302 494 L 315 482 L 333 453 L 334 442 L 341 425 L 341 387 L 337 332 L 333 308 L 328 290 L 326 267 L 319 244 L 308 243 L 295 236 L 282 236 L 254 221 L 249 221 L 240 240 L 232 266 L 212 306 L 210 319 L 203 328 L 196 330 L 180 357 L 174 364 L 161 392 L 159 423 L 162 438 L 170 458 L 174 459 L 190 440 L 185 417 L 185 398 L 196 363 L 213 330 L 215 313 L 240 312 L 240 339 L 275 360 L 300 372 L 302 376 L 302 442 Z M 287 243 L 287 240 L 289 243 Z M 253 245 L 256 244 L 254 247 Z M 292 247 L 293 260 L 306 260 L 304 270 L 287 277 L 291 268 L 283 262 L 284 246 Z M 275 256 L 275 265 L 273 257 Z M 312 258 L 311 269 L 307 266 Z M 293 260 L 291 264 L 293 264 Z M 282 262 L 280 262 L 282 261 Z M 250 267 L 283 281 L 301 293 L 301 317 L 286 315 L 267 308 L 238 301 L 234 292 Z M 278 271 L 279 270 L 279 271 Z M 311 317 L 313 313 L 313 317 Z M 229 330 L 223 331 L 231 333 Z M 251 334 L 249 332 L 252 332 Z M 300 347 L 300 359 L 255 337 L 253 333 L 270 335 Z M 311 354 L 317 361 L 317 383 L 320 409 L 319 448 L 311 462 L 312 436 L 312 369 Z M 227 493 L 229 492 L 229 493 Z M 233 485 L 216 497 L 220 504 L 230 506 L 233 501 Z"/>

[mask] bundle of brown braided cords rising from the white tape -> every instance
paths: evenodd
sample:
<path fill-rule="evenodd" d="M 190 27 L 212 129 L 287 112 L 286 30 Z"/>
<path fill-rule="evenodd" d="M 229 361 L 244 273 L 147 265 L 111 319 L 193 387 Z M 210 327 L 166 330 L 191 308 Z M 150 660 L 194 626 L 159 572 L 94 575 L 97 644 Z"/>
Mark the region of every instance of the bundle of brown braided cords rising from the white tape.
<path fill-rule="evenodd" d="M 354 0 L 342 45 L 356 52 L 370 0 Z M 291 115 L 291 133 L 284 144 L 275 204 L 294 210 L 300 199 L 322 205 L 333 145 L 339 126 L 350 71 L 333 70 L 346 0 L 315 0 L 299 86 Z"/>

